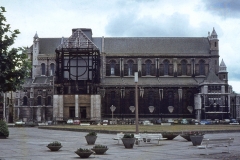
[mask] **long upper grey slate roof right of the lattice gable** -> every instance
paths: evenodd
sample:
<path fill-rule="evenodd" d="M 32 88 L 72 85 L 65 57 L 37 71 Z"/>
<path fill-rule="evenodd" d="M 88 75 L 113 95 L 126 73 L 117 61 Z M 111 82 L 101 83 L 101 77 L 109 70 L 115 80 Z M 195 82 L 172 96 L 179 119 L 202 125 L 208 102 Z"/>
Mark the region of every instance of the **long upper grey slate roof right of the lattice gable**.
<path fill-rule="evenodd" d="M 204 37 L 116 37 L 104 39 L 106 54 L 209 55 L 209 51 L 209 40 Z"/>

